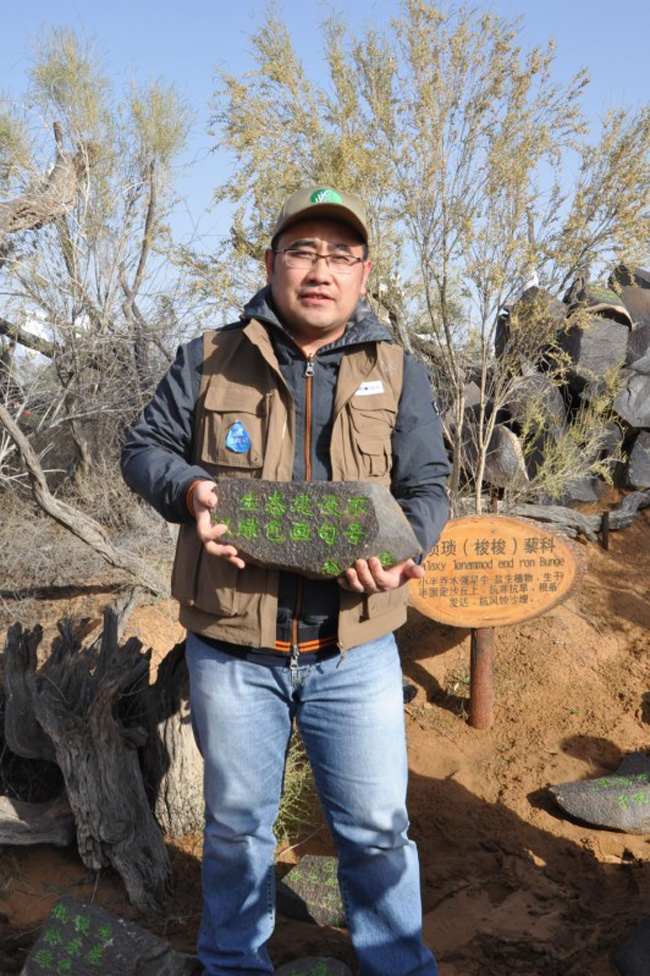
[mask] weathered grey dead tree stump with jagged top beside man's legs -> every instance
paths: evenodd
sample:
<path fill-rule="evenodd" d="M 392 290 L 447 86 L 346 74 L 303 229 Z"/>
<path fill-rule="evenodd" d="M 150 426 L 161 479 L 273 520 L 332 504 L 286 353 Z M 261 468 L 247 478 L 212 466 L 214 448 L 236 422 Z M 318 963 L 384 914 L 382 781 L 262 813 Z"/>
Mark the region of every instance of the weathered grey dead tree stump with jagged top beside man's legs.
<path fill-rule="evenodd" d="M 184 646 L 170 652 L 152 685 L 151 652 L 137 638 L 118 644 L 112 610 L 88 647 L 60 623 L 37 671 L 41 638 L 39 627 L 24 632 L 19 624 L 7 635 L 7 744 L 19 756 L 54 759 L 84 864 L 112 865 L 134 905 L 160 912 L 171 882 L 163 830 L 188 832 L 202 817 Z"/>

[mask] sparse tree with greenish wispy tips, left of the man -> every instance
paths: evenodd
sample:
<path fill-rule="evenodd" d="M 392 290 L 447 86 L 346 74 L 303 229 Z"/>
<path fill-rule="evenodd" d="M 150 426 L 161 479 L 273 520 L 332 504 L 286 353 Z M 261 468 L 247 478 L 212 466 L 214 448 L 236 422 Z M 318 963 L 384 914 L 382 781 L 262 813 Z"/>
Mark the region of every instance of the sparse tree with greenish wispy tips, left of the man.
<path fill-rule="evenodd" d="M 54 162 L 40 133 L 54 126 Z M 71 436 L 76 472 L 115 456 L 176 343 L 168 260 L 172 164 L 189 111 L 173 87 L 118 102 L 70 31 L 42 44 L 22 102 L 0 112 L 0 342 L 49 361 L 47 423 Z M 54 436 L 54 435 L 53 435 Z"/>

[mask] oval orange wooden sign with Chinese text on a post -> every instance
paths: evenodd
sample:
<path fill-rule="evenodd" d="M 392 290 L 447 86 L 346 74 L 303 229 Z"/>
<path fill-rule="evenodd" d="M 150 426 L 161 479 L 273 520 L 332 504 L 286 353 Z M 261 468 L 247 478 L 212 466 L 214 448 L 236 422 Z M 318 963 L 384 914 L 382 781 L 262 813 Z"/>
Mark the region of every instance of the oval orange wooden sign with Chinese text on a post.
<path fill-rule="evenodd" d="M 454 627 L 529 620 L 564 600 L 585 571 L 578 546 L 530 519 L 473 515 L 448 522 L 410 583 L 420 613 Z"/>

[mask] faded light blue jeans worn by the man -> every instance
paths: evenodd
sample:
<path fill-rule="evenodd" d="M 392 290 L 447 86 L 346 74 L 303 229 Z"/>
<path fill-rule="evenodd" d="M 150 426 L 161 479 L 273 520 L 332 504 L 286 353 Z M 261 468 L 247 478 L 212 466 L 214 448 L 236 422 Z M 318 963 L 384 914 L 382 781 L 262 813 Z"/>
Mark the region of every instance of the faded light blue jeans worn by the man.
<path fill-rule="evenodd" d="M 205 761 L 203 917 L 209 976 L 272 973 L 275 822 L 295 718 L 338 851 L 360 976 L 437 976 L 421 942 L 418 858 L 392 634 L 317 664 L 268 666 L 188 634 L 192 722 Z"/>

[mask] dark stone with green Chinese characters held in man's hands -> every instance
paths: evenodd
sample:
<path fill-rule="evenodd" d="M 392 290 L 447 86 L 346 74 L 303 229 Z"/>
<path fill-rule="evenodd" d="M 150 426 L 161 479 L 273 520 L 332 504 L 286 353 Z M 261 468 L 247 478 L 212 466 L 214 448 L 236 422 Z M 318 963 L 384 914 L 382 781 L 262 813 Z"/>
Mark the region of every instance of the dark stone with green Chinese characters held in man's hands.
<path fill-rule="evenodd" d="M 226 479 L 213 524 L 242 559 L 316 579 L 340 576 L 355 559 L 386 567 L 420 553 L 402 509 L 383 485 L 362 481 Z"/>

